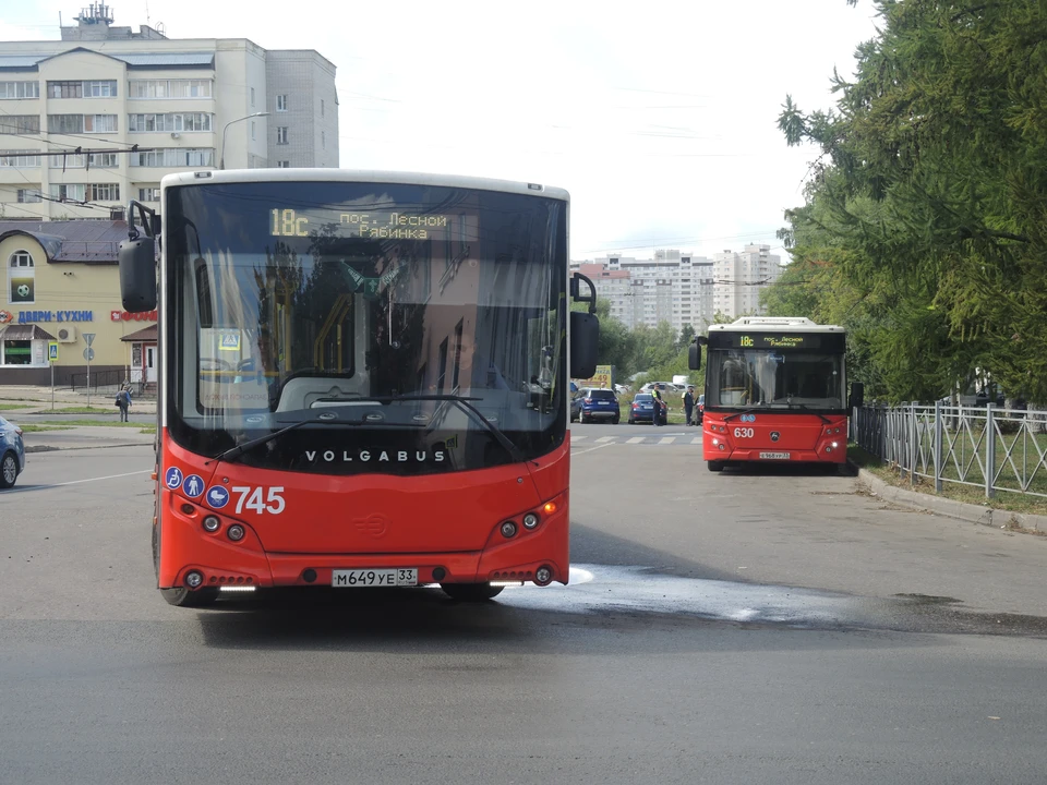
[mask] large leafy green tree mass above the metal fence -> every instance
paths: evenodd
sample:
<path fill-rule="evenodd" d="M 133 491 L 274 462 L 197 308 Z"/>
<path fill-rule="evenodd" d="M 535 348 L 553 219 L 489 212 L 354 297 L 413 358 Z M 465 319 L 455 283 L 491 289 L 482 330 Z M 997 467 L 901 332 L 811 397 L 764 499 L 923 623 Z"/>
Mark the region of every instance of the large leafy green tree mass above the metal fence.
<path fill-rule="evenodd" d="M 849 0 L 850 1 L 850 0 Z M 837 107 L 779 125 L 814 143 L 793 264 L 769 312 L 851 331 L 855 374 L 931 399 L 988 370 L 1047 400 L 1047 7 L 881 0 Z"/>

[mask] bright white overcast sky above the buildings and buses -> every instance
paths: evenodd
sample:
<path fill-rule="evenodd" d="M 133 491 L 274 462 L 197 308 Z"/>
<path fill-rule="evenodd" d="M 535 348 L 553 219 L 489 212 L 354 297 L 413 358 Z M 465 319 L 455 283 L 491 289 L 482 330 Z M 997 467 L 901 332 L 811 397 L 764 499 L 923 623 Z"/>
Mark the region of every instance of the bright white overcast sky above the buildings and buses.
<path fill-rule="evenodd" d="M 0 40 L 60 37 L 86 0 L 0 0 Z M 786 95 L 831 109 L 877 34 L 871 0 L 118 0 L 169 38 L 315 49 L 337 68 L 340 166 L 566 189 L 570 257 L 711 257 L 766 243 L 817 152 Z M 509 10 L 514 8 L 514 10 Z"/>

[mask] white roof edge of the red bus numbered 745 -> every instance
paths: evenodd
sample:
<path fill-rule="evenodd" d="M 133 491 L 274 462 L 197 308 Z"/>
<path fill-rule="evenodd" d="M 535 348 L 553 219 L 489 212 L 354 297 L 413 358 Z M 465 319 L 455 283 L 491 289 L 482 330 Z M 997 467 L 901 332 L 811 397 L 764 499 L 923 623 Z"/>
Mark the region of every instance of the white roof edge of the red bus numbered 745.
<path fill-rule="evenodd" d="M 476 189 L 504 193 L 529 194 L 547 198 L 570 201 L 565 189 L 539 183 L 494 180 L 462 174 L 432 174 L 426 172 L 382 171 L 366 169 L 203 169 L 200 171 L 165 174 L 160 188 L 172 185 L 207 185 L 210 183 L 249 182 L 377 182 L 407 183 L 410 185 L 435 185 L 443 188 Z"/>

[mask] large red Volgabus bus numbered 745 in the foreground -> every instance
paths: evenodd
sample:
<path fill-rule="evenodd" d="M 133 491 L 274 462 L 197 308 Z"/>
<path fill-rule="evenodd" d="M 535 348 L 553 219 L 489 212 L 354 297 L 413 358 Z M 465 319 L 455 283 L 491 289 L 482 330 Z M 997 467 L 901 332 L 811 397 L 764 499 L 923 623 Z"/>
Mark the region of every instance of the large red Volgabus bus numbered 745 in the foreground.
<path fill-rule="evenodd" d="M 594 373 L 599 325 L 568 270 L 565 191 L 207 170 L 128 216 L 123 305 L 159 312 L 169 603 L 567 583 L 567 385 Z"/>

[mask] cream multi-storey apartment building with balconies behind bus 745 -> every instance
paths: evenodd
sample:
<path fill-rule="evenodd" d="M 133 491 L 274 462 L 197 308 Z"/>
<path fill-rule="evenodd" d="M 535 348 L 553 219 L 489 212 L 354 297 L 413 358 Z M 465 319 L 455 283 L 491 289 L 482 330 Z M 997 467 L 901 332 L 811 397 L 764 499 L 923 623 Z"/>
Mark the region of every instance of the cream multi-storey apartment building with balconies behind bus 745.
<path fill-rule="evenodd" d="M 61 40 L 0 43 L 0 219 L 119 218 L 158 201 L 165 174 L 222 162 L 338 167 L 318 52 L 133 32 L 104 3 L 74 22 Z"/>

